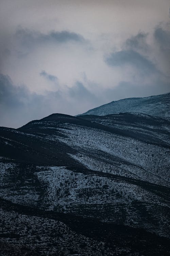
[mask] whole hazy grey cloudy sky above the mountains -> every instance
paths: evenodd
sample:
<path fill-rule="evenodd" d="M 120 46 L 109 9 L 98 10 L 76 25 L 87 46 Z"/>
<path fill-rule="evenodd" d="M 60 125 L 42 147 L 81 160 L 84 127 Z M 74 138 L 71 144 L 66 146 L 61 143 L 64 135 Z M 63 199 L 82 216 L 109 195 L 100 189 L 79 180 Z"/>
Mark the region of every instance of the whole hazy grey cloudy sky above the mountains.
<path fill-rule="evenodd" d="M 0 1 L 0 126 L 169 91 L 169 0 Z"/>

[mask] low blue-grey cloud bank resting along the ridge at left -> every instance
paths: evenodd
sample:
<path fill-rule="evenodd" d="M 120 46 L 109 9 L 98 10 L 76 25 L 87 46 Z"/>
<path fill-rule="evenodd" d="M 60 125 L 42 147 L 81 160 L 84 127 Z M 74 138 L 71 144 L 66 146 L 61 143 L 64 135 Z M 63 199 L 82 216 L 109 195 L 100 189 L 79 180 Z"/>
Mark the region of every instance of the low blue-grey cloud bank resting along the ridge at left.
<path fill-rule="evenodd" d="M 41 95 L 27 86 L 15 86 L 9 76 L 0 74 L 0 126 L 18 128 L 52 113 L 76 115 L 100 102 L 81 82 Z"/>

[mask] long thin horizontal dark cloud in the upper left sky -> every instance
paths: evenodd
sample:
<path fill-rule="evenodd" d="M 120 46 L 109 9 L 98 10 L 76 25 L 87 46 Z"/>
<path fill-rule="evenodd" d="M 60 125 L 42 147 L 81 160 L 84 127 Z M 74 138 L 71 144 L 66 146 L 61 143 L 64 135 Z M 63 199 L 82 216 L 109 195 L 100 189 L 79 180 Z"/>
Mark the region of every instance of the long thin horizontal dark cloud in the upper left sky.
<path fill-rule="evenodd" d="M 48 34 L 43 34 L 38 31 L 23 29 L 19 27 L 15 33 L 15 38 L 21 42 L 22 45 L 31 47 L 35 44 L 43 44 L 47 42 L 53 43 L 67 43 L 69 41 L 84 43 L 86 40 L 80 34 L 69 31 L 50 31 Z"/>

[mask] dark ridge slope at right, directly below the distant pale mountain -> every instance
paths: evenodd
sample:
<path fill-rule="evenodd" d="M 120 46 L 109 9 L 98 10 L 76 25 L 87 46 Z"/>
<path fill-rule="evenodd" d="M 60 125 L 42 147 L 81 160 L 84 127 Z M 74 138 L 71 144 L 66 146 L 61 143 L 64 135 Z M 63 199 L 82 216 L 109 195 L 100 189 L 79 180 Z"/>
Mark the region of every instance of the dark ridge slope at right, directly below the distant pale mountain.
<path fill-rule="evenodd" d="M 141 141 L 170 146 L 170 122 L 140 113 L 120 113 L 106 116 L 83 115 L 82 119 L 110 127 L 117 134 Z"/>

